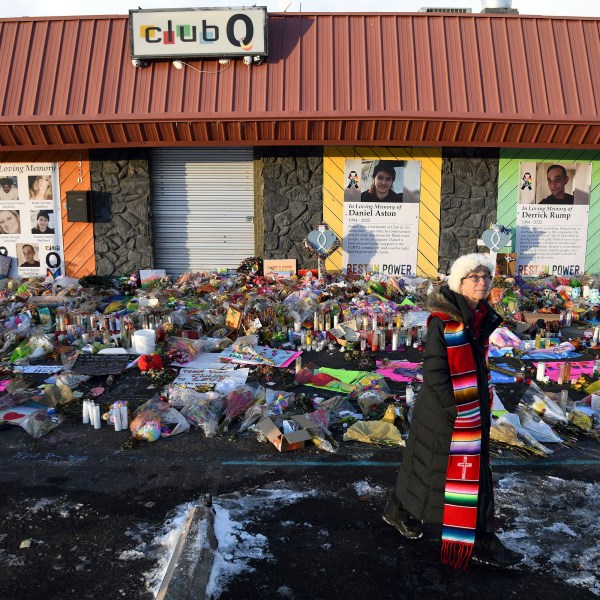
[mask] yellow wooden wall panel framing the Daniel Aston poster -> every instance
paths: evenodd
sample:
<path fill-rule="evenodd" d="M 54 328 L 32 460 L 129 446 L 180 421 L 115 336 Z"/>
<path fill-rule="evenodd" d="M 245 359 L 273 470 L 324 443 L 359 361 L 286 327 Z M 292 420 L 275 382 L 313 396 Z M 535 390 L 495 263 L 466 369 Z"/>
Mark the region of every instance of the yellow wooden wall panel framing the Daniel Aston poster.
<path fill-rule="evenodd" d="M 438 273 L 442 151 L 439 148 L 379 148 L 330 146 L 323 155 L 323 219 L 340 238 L 344 221 L 344 163 L 346 159 L 396 159 L 421 161 L 421 203 L 417 275 L 435 278 Z M 331 271 L 342 270 L 342 250 L 326 263 Z"/>

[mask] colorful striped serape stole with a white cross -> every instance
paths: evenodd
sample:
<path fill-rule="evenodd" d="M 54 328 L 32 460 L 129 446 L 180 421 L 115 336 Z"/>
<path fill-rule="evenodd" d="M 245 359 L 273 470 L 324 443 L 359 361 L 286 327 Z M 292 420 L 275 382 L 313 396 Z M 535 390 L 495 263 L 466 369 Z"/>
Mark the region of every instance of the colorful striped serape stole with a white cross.
<path fill-rule="evenodd" d="M 473 348 L 463 323 L 441 315 L 457 416 L 452 432 L 446 486 L 441 560 L 465 569 L 473 553 L 481 463 L 481 412 Z M 487 351 L 487 349 L 486 349 Z"/>

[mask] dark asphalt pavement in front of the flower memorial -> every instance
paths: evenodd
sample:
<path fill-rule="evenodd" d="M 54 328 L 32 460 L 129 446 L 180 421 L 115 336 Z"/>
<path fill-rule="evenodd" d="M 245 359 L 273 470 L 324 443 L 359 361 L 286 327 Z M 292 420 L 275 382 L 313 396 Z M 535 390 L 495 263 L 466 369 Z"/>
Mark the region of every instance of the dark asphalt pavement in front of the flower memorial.
<path fill-rule="evenodd" d="M 337 351 L 305 358 L 353 366 Z M 284 380 L 289 385 L 291 376 Z M 525 387 L 497 389 L 508 408 Z M 117 391 L 126 389 L 125 381 Z M 422 540 L 410 542 L 381 519 L 402 449 L 341 436 L 335 432 L 340 449 L 330 454 L 312 445 L 279 453 L 251 432 L 230 440 L 193 430 L 123 450 L 127 432 L 96 431 L 75 418 L 39 440 L 20 427 L 0 431 L 0 599 L 153 598 L 147 583 L 157 562 L 153 544 L 178 507 L 265 489 L 305 495 L 253 513 L 248 533 L 268 537 L 269 557 L 251 561 L 253 570 L 230 580 L 219 598 L 597 597 L 550 570 L 462 572 L 441 565 L 439 532 L 427 528 Z M 494 472 L 594 483 L 599 449 L 583 439 L 581 449 L 561 447 L 546 459 L 505 452 L 494 458 Z M 365 481 L 378 493 L 357 493 Z M 499 512 L 499 527 L 509 530 L 516 515 L 508 505 Z"/>

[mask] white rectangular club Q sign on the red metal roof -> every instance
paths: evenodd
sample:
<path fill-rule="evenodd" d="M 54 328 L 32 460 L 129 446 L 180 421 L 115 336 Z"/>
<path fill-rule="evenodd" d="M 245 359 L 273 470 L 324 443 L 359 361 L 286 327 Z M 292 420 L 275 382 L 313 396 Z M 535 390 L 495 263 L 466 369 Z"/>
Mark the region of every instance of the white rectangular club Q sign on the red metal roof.
<path fill-rule="evenodd" d="M 267 55 L 267 8 L 130 10 L 131 58 Z"/>

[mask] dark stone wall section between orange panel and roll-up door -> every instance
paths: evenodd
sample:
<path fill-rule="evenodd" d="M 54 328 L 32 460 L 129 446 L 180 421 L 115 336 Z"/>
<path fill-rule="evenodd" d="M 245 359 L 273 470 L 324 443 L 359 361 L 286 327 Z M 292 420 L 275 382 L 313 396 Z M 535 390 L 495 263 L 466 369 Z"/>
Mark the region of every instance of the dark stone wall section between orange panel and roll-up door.
<path fill-rule="evenodd" d="M 150 173 L 145 150 L 90 152 L 97 275 L 152 268 Z"/>

